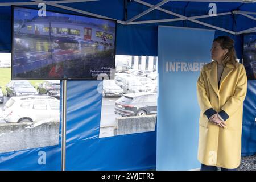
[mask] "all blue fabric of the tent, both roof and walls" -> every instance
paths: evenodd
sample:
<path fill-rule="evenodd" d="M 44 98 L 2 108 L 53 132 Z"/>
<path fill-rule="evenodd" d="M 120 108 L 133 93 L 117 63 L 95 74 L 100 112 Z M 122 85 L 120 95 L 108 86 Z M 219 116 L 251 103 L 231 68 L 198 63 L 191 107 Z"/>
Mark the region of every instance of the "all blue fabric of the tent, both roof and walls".
<path fill-rule="evenodd" d="M 0 0 L 1 2 L 29 2 L 30 0 Z M 156 5 L 160 0 L 144 0 L 144 2 Z M 127 18 L 123 0 L 101 0 L 92 2 L 63 3 L 62 5 L 73 7 L 90 13 L 108 16 L 117 20 L 129 20 L 135 15 L 148 9 L 134 1 L 127 1 Z M 207 15 L 208 2 L 175 2 L 171 1 L 161 6 L 163 9 L 174 11 L 184 16 Z M 217 2 L 217 13 L 225 13 L 233 10 L 256 11 L 256 3 L 220 3 Z M 36 5 L 27 5 L 34 7 Z M 69 10 L 47 5 L 47 10 L 59 11 L 82 15 Z M 256 15 L 251 15 L 256 18 Z M 135 21 L 177 18 L 174 15 L 153 10 Z M 242 31 L 255 27 L 254 20 L 240 14 L 224 15 L 212 18 L 197 19 L 230 31 Z M 157 56 L 157 27 L 179 26 L 192 28 L 207 28 L 201 24 L 188 20 L 177 22 L 135 24 L 125 26 L 117 24 L 117 55 L 145 55 Z M 0 52 L 11 52 L 11 7 L 0 6 Z M 216 30 L 215 36 L 231 36 L 236 44 L 235 48 L 239 59 L 243 56 L 243 34 L 233 35 Z M 100 81 L 68 81 L 68 110 L 67 110 L 67 169 L 68 170 L 144 170 L 154 169 L 156 164 L 156 129 L 153 132 L 122 135 L 117 137 L 98 138 L 100 131 L 100 113 L 102 96 L 97 93 L 97 85 Z M 242 131 L 242 155 L 256 153 L 255 139 L 255 81 L 248 81 L 247 96 L 243 111 Z M 79 90 L 79 93 L 76 92 Z M 61 134 L 61 127 L 60 127 Z M 61 137 L 59 143 L 61 143 Z M 118 148 L 117 148 L 118 146 Z M 84 150 L 81 150 L 83 148 Z M 128 150 L 127 150 L 128 148 Z M 47 166 L 39 166 L 38 152 L 46 151 Z M 0 154 L 0 169 L 41 169 L 60 170 L 60 144 L 31 150 L 9 152 Z M 35 164 L 36 163 L 36 164 Z M 24 164 L 24 165 L 22 165 Z M 79 165 L 76 165 L 79 164 Z"/>

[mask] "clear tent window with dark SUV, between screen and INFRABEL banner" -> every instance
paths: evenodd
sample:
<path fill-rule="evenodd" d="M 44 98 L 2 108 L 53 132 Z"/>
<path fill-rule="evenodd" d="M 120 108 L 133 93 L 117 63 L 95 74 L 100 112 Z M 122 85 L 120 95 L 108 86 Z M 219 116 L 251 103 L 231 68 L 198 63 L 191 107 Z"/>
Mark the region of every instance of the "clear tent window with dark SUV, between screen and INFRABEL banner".
<path fill-rule="evenodd" d="M 113 80 L 102 81 L 100 138 L 154 131 L 157 58 L 117 55 Z"/>

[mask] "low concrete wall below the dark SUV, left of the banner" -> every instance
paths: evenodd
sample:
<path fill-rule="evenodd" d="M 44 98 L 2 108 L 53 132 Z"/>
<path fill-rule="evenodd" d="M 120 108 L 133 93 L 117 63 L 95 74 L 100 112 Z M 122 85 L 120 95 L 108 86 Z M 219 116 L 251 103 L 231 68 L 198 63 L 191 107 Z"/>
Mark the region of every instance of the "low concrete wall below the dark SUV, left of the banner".
<path fill-rule="evenodd" d="M 117 128 L 114 130 L 114 135 L 155 131 L 156 115 L 116 118 L 116 122 Z"/>

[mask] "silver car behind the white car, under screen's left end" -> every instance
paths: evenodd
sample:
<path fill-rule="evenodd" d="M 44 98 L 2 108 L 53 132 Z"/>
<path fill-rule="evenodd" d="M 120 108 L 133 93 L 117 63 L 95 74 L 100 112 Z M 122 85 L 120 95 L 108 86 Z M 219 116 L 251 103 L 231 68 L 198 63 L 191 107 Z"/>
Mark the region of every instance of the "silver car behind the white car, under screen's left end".
<path fill-rule="evenodd" d="M 6 94 L 9 96 L 28 96 L 38 94 L 29 81 L 10 81 L 6 85 Z"/>

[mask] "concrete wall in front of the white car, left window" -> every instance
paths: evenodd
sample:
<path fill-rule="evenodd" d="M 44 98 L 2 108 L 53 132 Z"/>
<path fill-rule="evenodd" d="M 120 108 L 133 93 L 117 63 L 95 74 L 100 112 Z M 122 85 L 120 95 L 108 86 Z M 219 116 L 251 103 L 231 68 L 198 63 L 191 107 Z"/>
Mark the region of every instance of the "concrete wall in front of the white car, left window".
<path fill-rule="evenodd" d="M 59 121 L 0 124 L 0 153 L 59 144 Z"/>

